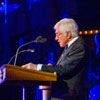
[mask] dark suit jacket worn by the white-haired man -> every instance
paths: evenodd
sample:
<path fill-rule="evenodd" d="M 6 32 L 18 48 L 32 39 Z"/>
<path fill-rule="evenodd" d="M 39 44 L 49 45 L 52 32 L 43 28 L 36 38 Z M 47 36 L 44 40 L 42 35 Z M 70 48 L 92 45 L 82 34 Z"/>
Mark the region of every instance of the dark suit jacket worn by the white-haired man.
<path fill-rule="evenodd" d="M 89 52 L 82 38 L 65 48 L 56 66 L 43 65 L 42 70 L 57 72 L 52 96 L 66 100 L 88 100 Z"/>

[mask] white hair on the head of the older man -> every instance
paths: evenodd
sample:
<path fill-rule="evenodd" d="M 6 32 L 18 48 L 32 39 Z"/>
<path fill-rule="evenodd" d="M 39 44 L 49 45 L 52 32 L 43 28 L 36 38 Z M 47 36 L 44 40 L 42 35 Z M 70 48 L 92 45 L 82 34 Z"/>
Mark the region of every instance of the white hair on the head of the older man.
<path fill-rule="evenodd" d="M 60 20 L 54 26 L 54 29 L 57 28 L 59 28 L 59 30 L 65 35 L 67 35 L 67 32 L 71 32 L 72 37 L 78 36 L 78 25 L 74 19 L 64 18 Z"/>

